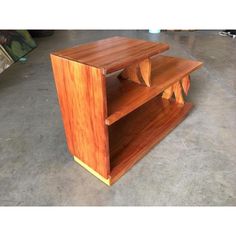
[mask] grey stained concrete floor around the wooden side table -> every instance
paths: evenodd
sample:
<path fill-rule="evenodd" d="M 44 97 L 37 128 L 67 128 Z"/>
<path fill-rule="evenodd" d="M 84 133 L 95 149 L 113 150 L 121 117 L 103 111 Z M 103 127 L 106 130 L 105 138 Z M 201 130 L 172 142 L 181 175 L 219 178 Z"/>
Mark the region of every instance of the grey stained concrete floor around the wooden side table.
<path fill-rule="evenodd" d="M 49 53 L 123 35 L 204 62 L 186 120 L 112 187 L 67 151 Z M 56 31 L 0 75 L 0 205 L 236 205 L 236 40 L 216 31 Z"/>

